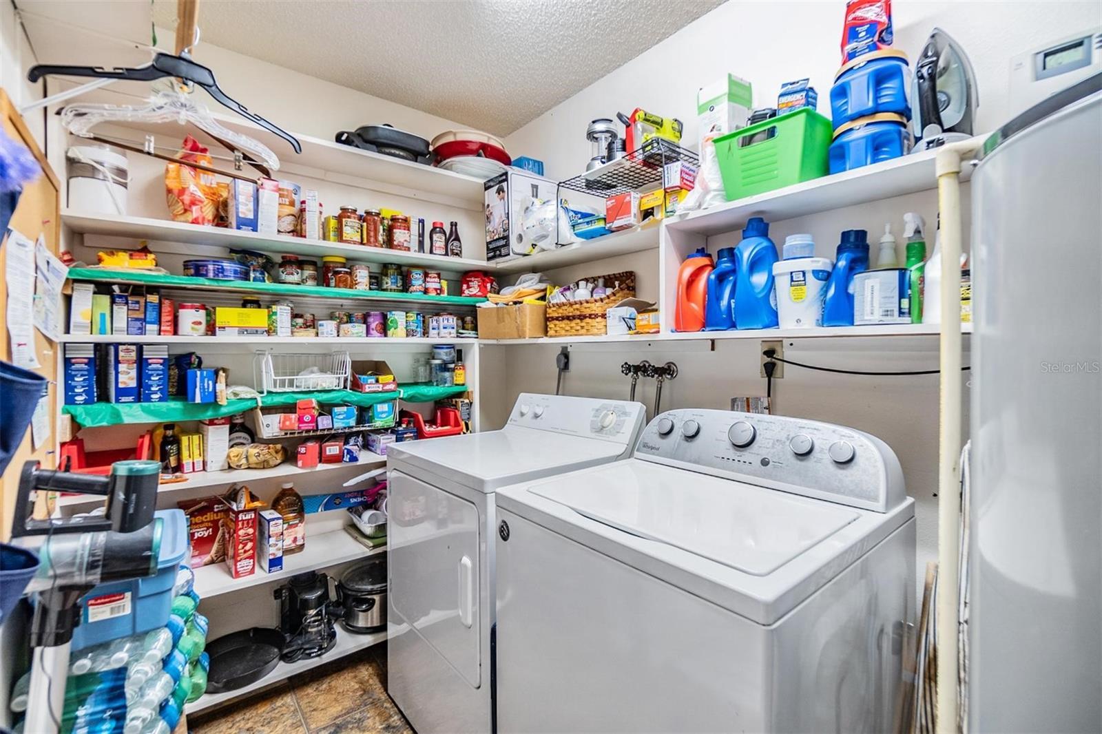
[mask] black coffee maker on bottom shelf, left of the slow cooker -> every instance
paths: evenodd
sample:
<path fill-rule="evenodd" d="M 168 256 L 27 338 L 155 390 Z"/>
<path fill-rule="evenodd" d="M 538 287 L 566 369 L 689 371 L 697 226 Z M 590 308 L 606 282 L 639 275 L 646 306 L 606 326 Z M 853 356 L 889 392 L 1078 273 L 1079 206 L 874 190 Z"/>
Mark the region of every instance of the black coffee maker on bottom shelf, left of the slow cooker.
<path fill-rule="evenodd" d="M 280 630 L 287 640 L 280 656 L 285 662 L 316 658 L 333 648 L 337 639 L 334 619 L 341 614 L 329 598 L 326 574 L 295 574 L 276 590 L 274 596 L 280 603 Z"/>

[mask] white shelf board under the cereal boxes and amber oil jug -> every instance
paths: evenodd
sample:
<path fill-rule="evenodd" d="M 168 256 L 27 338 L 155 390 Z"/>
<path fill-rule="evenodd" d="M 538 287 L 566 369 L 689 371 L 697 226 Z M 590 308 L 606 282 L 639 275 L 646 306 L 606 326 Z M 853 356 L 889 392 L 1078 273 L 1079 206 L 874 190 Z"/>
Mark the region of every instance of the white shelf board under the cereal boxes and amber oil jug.
<path fill-rule="evenodd" d="M 386 546 L 381 548 L 367 548 L 352 538 L 343 528 L 315 536 L 307 533 L 305 548 L 298 553 L 283 557 L 282 571 L 264 573 L 258 564 L 253 573 L 240 579 L 234 579 L 229 575 L 229 570 L 226 569 L 225 563 L 212 563 L 210 565 L 195 569 L 195 593 L 199 595 L 199 598 L 209 598 L 220 594 L 238 592 L 249 586 L 283 581 L 304 571 L 315 571 L 336 565 L 337 563 L 344 563 L 345 561 L 355 561 L 360 558 L 386 552 Z"/>

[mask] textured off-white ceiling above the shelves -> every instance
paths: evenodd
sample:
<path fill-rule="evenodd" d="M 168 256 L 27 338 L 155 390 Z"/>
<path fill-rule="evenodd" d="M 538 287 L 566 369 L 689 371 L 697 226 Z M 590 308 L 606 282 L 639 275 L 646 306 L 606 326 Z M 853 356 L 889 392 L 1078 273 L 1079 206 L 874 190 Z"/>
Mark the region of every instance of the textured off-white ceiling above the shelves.
<path fill-rule="evenodd" d="M 722 2 L 203 0 L 199 28 L 203 43 L 508 134 Z M 154 1 L 158 25 L 175 15 Z"/>

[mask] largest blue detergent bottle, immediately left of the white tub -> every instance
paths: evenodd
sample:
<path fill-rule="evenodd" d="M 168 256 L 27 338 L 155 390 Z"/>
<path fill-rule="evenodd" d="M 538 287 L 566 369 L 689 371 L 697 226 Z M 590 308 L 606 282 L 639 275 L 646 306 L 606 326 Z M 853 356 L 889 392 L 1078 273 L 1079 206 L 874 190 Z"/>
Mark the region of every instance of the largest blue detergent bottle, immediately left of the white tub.
<path fill-rule="evenodd" d="M 769 225 L 752 217 L 735 248 L 735 328 L 773 328 L 777 321 L 777 291 L 773 263 L 777 246 L 769 239 Z"/>

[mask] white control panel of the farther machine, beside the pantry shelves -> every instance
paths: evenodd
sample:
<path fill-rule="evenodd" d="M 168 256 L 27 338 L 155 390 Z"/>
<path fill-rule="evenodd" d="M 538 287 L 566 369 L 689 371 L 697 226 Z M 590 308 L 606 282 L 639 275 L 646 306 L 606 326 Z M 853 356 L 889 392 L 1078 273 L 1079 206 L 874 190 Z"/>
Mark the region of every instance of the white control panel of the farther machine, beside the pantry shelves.
<path fill-rule="evenodd" d="M 581 435 L 634 445 L 646 420 L 639 402 L 573 398 L 522 392 L 509 415 L 509 425 Z"/>

